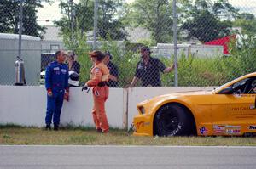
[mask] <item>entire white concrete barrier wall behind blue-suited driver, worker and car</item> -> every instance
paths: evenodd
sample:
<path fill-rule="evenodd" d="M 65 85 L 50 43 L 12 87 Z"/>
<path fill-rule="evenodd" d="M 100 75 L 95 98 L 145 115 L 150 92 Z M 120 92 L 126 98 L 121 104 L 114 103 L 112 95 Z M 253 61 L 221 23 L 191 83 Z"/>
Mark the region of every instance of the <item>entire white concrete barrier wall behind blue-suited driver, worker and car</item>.
<path fill-rule="evenodd" d="M 130 127 L 137 115 L 137 103 L 166 93 L 210 90 L 213 87 L 131 87 L 110 88 L 106 103 L 110 127 Z M 71 87 L 70 101 L 64 101 L 61 124 L 93 127 L 92 94 Z M 0 124 L 15 123 L 23 126 L 44 127 L 46 91 L 44 87 L 0 86 Z"/>

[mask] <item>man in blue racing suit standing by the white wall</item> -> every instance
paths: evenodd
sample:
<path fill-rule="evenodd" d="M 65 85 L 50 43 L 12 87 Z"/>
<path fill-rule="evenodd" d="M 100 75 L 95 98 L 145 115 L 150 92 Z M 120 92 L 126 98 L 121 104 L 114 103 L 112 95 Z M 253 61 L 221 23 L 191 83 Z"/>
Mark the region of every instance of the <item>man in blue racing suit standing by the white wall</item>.
<path fill-rule="evenodd" d="M 52 120 L 54 130 L 59 129 L 64 95 L 67 100 L 69 97 L 68 68 L 64 64 L 65 59 L 66 54 L 64 51 L 57 51 L 55 53 L 55 61 L 49 63 L 45 70 L 45 87 L 47 90 L 46 129 L 51 129 Z"/>

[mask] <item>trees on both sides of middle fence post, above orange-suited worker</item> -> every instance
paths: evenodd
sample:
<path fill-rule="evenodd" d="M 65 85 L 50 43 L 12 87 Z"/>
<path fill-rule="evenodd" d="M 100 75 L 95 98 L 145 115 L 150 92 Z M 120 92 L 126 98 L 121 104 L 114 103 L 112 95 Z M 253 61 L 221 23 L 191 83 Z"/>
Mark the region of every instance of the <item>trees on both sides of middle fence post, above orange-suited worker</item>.
<path fill-rule="evenodd" d="M 97 34 L 102 37 L 102 39 L 106 40 L 110 37 L 113 40 L 124 40 L 126 38 L 127 33 L 125 26 L 121 20 L 117 18 L 118 9 L 122 8 L 121 2 L 122 1 L 113 0 L 99 1 Z M 61 27 L 62 35 L 71 34 L 72 23 L 73 31 L 79 32 L 81 36 L 93 30 L 93 1 L 82 0 L 78 4 L 75 4 L 70 0 L 61 0 L 60 7 L 62 14 L 65 14 L 65 16 L 62 17 L 61 20 L 56 21 L 55 24 Z"/>

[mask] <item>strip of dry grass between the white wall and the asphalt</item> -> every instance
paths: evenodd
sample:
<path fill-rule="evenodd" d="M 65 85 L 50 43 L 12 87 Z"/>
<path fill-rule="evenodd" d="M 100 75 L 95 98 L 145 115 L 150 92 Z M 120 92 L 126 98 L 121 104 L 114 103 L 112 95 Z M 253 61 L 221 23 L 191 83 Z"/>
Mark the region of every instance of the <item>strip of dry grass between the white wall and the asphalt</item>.
<path fill-rule="evenodd" d="M 135 137 L 125 130 L 96 132 L 88 127 L 66 127 L 45 131 L 38 127 L 0 126 L 0 144 L 40 145 L 212 145 L 256 146 L 256 138 L 243 137 Z"/>

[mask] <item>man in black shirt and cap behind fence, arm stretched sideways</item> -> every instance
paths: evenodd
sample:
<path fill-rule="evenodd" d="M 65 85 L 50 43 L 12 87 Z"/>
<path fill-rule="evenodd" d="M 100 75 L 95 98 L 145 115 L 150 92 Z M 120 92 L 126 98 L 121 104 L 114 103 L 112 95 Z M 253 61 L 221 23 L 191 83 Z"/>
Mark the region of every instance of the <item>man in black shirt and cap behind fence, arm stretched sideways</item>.
<path fill-rule="evenodd" d="M 160 87 L 160 71 L 169 73 L 174 70 L 172 67 L 166 67 L 160 59 L 151 57 L 150 48 L 143 46 L 140 49 L 141 60 L 137 63 L 135 76 L 132 79 L 131 87 L 135 86 L 138 80 L 141 80 L 143 87 Z"/>

